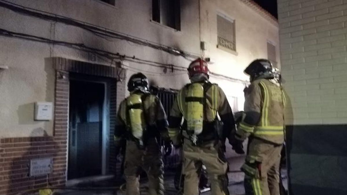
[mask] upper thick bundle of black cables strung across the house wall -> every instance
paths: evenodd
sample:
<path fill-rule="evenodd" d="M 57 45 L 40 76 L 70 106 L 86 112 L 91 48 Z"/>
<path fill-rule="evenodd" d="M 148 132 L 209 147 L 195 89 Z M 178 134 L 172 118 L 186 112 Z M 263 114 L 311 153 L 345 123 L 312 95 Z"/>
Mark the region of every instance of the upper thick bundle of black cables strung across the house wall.
<path fill-rule="evenodd" d="M 105 37 L 109 37 L 109 38 L 114 38 L 114 39 L 120 39 L 120 40 L 126 40 L 126 41 L 130 41 L 139 45 L 144 45 L 144 46 L 149 46 L 151 48 L 157 49 L 157 50 L 162 50 L 165 51 L 167 53 L 173 54 L 175 56 L 182 56 L 186 59 L 188 58 L 197 58 L 198 55 L 191 53 L 191 52 L 186 52 L 183 50 L 179 50 L 176 48 L 172 48 L 170 46 L 166 46 L 166 45 L 162 45 L 162 44 L 158 44 L 158 43 L 154 43 L 148 40 L 144 40 L 138 37 L 134 37 L 134 36 L 130 36 L 124 33 L 120 33 L 117 31 L 113 31 L 111 29 L 107 29 L 101 26 L 96 26 L 93 24 L 89 24 L 86 22 L 82 22 L 73 18 L 68 18 L 65 16 L 61 16 L 61 15 L 57 15 L 57 14 L 53 14 L 50 12 L 46 12 L 46 11 L 42 11 L 42 10 L 37 10 L 37 9 L 33 9 L 33 8 L 29 8 L 29 7 L 25 7 L 16 3 L 12 3 L 6 0 L 0 0 L 0 7 L 3 8 L 7 8 L 10 9 L 14 12 L 20 13 L 20 14 L 24 14 L 24 15 L 28 15 L 31 17 L 36 17 L 36 18 L 40 18 L 40 19 L 45 19 L 45 20 L 50 20 L 53 22 L 60 22 L 60 23 L 64 23 L 67 25 L 72 25 L 72 26 L 76 26 L 82 29 L 85 29 L 89 32 L 94 33 L 95 35 L 98 36 L 104 36 Z"/>

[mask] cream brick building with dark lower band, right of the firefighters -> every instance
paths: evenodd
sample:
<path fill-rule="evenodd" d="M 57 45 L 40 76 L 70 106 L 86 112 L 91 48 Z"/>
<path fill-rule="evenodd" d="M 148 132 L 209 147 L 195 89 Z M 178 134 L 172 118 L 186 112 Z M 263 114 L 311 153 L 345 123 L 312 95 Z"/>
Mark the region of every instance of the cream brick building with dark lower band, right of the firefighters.
<path fill-rule="evenodd" d="M 290 194 L 347 194 L 347 2 L 277 2 Z"/>

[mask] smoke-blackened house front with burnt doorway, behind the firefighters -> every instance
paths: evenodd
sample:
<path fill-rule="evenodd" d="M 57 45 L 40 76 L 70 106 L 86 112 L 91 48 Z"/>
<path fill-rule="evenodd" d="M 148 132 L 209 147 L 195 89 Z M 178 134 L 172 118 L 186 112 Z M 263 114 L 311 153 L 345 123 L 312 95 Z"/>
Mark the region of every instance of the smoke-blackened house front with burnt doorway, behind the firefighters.
<path fill-rule="evenodd" d="M 0 0 L 0 16 L 0 194 L 114 172 L 117 105 L 136 72 L 180 89 L 208 58 L 238 111 L 248 63 L 280 67 L 277 20 L 248 0 Z"/>

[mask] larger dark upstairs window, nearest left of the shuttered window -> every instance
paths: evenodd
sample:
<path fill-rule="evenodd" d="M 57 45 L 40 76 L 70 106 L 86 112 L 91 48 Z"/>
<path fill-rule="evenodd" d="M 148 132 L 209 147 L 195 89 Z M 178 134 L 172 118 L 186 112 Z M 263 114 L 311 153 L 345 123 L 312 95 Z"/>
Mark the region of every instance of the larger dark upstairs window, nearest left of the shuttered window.
<path fill-rule="evenodd" d="M 152 20 L 181 30 L 180 0 L 152 0 Z"/>

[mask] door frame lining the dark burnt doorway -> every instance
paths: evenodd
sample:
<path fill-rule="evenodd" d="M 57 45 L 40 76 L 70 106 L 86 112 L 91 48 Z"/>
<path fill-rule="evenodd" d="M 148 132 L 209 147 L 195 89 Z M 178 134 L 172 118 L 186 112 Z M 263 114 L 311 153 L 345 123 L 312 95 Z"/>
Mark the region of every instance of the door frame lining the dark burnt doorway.
<path fill-rule="evenodd" d="M 88 79 L 90 78 L 90 79 Z M 103 108 L 102 108 L 102 143 L 101 143 L 101 175 L 106 175 L 107 172 L 107 153 L 108 153 L 108 145 L 109 145 L 109 123 L 110 123 L 110 91 L 109 91 L 109 83 L 107 81 L 107 78 L 98 78 L 91 75 L 79 75 L 76 74 L 75 76 L 70 76 L 69 80 L 75 80 L 75 81 L 81 81 L 81 82 L 88 82 L 88 83 L 101 83 L 104 84 L 104 100 L 103 100 Z M 69 83 L 70 85 L 70 83 Z M 70 98 L 70 97 L 69 97 Z M 70 110 L 69 110 L 70 113 Z M 70 146 L 70 123 L 68 124 L 68 132 L 67 132 L 67 150 L 69 151 Z M 69 152 L 67 153 L 67 156 L 69 156 Z M 69 165 L 69 158 L 67 158 L 67 172 L 68 172 L 68 165 Z M 76 178 L 79 179 L 79 178 Z"/>

